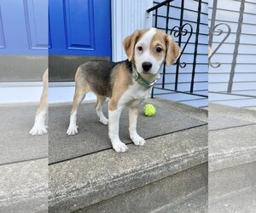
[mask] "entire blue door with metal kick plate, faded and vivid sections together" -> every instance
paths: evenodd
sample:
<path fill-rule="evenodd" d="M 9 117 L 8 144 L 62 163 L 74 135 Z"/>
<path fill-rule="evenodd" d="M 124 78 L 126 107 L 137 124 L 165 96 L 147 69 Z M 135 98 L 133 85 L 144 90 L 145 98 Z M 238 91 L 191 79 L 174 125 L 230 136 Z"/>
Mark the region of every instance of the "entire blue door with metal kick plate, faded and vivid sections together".
<path fill-rule="evenodd" d="M 48 54 L 52 81 L 111 59 L 110 0 L 0 0 L 0 81 L 41 80 Z"/>

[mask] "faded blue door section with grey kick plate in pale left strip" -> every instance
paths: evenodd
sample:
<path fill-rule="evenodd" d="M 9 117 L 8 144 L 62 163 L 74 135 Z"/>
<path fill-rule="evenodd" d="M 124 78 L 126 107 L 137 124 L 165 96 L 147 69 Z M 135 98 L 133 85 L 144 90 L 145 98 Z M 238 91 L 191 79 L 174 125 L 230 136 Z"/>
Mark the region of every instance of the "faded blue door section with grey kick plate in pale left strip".
<path fill-rule="evenodd" d="M 41 81 L 48 66 L 48 1 L 0 0 L 0 81 Z"/>

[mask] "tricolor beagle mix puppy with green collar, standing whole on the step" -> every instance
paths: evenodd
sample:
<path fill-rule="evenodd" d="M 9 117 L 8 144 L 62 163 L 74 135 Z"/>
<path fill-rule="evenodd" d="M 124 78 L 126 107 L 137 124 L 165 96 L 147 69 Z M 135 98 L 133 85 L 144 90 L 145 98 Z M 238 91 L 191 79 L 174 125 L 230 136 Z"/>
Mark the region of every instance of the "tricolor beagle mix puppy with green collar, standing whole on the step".
<path fill-rule="evenodd" d="M 137 134 L 139 106 L 151 94 L 160 75 L 160 68 L 177 60 L 180 49 L 170 35 L 148 28 L 137 30 L 126 37 L 123 46 L 128 60 L 111 62 L 92 60 L 79 66 L 75 76 L 73 109 L 67 135 L 78 133 L 76 124 L 80 103 L 87 92 L 96 94 L 96 114 L 102 124 L 108 124 L 108 135 L 113 149 L 125 153 L 128 148 L 119 139 L 119 118 L 124 107 L 129 107 L 129 132 L 131 141 L 143 146 L 145 140 Z M 108 118 L 102 113 L 102 105 L 108 101 Z"/>

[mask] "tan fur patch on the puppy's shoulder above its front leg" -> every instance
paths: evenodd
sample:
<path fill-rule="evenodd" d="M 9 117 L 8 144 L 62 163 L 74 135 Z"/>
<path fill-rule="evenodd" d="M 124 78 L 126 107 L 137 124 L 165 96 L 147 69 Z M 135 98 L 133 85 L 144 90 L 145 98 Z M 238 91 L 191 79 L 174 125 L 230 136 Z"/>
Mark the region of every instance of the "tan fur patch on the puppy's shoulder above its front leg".
<path fill-rule="evenodd" d="M 114 67 L 112 74 L 113 89 L 112 97 L 108 103 L 108 109 L 113 111 L 117 108 L 119 99 L 125 93 L 125 90 L 132 83 L 131 73 L 127 70 L 125 63 Z"/>

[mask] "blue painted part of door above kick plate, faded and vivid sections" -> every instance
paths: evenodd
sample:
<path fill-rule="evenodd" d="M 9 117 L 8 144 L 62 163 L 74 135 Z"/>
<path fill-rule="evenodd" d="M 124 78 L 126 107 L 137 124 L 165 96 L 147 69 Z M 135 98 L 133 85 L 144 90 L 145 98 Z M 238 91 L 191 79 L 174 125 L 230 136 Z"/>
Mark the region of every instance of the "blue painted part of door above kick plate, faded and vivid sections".
<path fill-rule="evenodd" d="M 111 57 L 110 11 L 110 0 L 0 0 L 0 54 Z"/>

